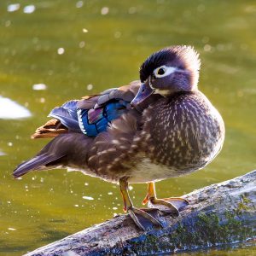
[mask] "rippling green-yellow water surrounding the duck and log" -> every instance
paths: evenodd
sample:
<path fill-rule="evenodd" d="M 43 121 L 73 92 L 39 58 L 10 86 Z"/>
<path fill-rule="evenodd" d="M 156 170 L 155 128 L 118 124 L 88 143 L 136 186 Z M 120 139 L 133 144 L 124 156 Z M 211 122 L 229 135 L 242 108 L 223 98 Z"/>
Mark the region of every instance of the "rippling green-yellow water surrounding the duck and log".
<path fill-rule="evenodd" d="M 8 12 L 10 3 L 20 9 Z M 26 14 L 29 4 L 35 10 Z M 0 119 L 0 253 L 26 253 L 122 212 L 118 186 L 99 179 L 55 170 L 14 180 L 11 173 L 46 143 L 30 135 L 51 108 L 138 79 L 141 62 L 168 45 L 192 44 L 200 52 L 199 86 L 223 115 L 226 139 L 210 166 L 157 183 L 158 195 L 183 195 L 255 169 L 255 32 L 255 1 L 2 0 L 0 95 L 32 117 Z M 42 83 L 47 90 L 32 90 Z M 146 185 L 132 187 L 140 206 Z M 253 249 L 218 253 L 253 255 Z"/>

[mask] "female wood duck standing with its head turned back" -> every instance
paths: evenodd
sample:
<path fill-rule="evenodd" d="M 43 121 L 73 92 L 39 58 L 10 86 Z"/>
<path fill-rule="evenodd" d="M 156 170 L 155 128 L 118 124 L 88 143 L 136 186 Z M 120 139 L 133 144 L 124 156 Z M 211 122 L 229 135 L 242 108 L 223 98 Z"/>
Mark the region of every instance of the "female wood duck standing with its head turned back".
<path fill-rule="evenodd" d="M 54 108 L 32 138 L 54 137 L 14 172 L 72 168 L 119 183 L 124 209 L 137 226 L 162 226 L 157 208 L 178 214 L 182 198 L 157 199 L 154 182 L 207 166 L 224 143 L 224 121 L 197 88 L 201 61 L 191 46 L 173 46 L 150 55 L 140 80 Z M 133 207 L 128 183 L 148 183 Z"/>

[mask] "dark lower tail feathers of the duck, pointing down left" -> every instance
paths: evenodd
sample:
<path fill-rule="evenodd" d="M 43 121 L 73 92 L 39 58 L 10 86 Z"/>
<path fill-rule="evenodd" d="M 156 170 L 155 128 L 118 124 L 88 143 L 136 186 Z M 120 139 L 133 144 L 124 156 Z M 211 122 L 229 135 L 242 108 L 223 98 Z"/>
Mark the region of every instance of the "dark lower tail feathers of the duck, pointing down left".
<path fill-rule="evenodd" d="M 46 165 L 55 160 L 61 159 L 63 156 L 65 155 L 55 155 L 47 153 L 37 155 L 31 160 L 26 160 L 25 162 L 17 166 L 13 173 L 13 176 L 20 177 L 26 174 L 26 172 L 44 169 Z"/>

